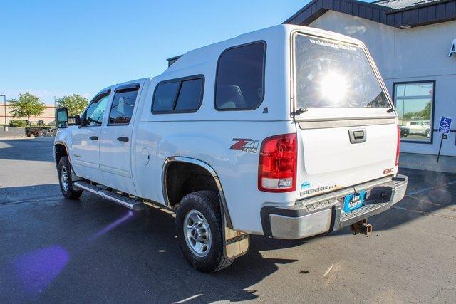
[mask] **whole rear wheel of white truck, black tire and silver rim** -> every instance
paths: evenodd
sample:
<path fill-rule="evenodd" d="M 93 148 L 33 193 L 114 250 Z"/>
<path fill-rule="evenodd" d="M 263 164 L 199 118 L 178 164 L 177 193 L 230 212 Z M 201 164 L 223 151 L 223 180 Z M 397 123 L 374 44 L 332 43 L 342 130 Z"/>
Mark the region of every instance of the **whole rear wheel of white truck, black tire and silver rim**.
<path fill-rule="evenodd" d="M 182 253 L 198 271 L 219 271 L 234 261 L 223 253 L 224 226 L 217 192 L 198 191 L 184 196 L 177 208 L 176 229 Z"/>

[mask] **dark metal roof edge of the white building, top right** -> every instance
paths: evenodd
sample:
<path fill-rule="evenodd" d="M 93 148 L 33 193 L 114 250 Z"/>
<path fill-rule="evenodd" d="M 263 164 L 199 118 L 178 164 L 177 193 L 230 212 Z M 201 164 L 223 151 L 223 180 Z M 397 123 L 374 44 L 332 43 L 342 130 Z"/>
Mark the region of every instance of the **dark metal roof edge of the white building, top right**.
<path fill-rule="evenodd" d="M 312 0 L 284 23 L 308 26 L 329 10 L 397 28 L 456 20 L 456 0 Z"/>

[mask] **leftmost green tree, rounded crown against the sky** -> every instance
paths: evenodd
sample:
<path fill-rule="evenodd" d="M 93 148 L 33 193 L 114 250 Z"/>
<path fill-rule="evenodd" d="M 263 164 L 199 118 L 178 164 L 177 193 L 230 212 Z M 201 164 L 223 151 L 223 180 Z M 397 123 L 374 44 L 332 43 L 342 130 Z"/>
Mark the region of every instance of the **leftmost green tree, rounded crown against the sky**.
<path fill-rule="evenodd" d="M 11 98 L 9 100 L 11 114 L 17 118 L 27 118 L 30 121 L 31 116 L 39 116 L 43 114 L 46 106 L 41 103 L 38 96 L 28 92 L 19 94 L 19 98 Z"/>

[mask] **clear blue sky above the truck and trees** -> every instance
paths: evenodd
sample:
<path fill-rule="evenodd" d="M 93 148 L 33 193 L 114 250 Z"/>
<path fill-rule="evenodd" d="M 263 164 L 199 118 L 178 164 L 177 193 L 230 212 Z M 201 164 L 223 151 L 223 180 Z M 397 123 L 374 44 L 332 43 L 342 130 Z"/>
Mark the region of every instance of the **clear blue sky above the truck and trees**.
<path fill-rule="evenodd" d="M 2 1 L 0 94 L 90 98 L 159 75 L 166 58 L 282 23 L 308 1 Z"/>

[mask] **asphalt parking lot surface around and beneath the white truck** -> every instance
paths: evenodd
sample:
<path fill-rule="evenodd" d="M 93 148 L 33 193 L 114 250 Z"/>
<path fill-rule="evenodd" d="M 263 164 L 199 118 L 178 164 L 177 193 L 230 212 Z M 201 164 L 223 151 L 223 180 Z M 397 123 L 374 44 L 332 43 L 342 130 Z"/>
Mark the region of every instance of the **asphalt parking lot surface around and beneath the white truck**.
<path fill-rule="evenodd" d="M 454 303 L 456 174 L 401 173 L 408 194 L 370 219 L 370 236 L 253 236 L 208 275 L 185 261 L 171 214 L 63 199 L 52 142 L 0 140 L 0 302 Z"/>

